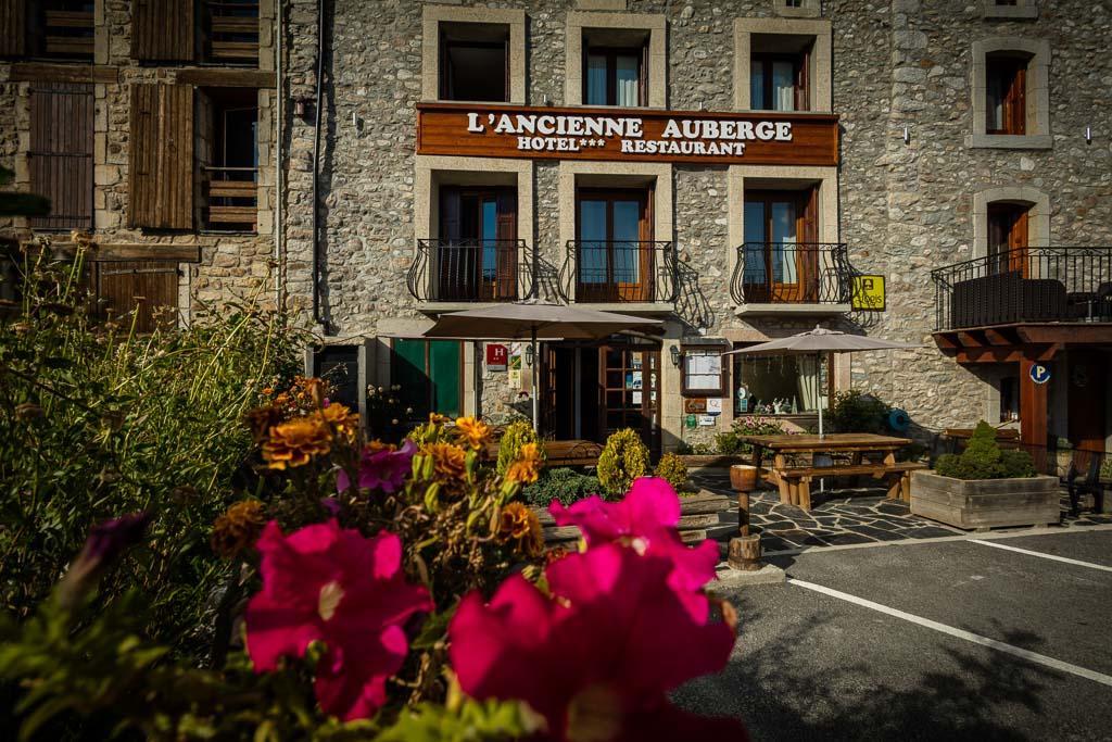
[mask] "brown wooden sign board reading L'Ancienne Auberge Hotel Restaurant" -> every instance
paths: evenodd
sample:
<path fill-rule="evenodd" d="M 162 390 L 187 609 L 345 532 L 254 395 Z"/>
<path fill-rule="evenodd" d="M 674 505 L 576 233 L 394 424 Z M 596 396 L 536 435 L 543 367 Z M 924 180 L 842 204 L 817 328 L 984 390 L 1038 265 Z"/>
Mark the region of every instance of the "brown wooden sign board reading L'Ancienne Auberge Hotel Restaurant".
<path fill-rule="evenodd" d="M 417 103 L 417 154 L 836 166 L 837 116 Z"/>

